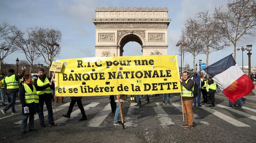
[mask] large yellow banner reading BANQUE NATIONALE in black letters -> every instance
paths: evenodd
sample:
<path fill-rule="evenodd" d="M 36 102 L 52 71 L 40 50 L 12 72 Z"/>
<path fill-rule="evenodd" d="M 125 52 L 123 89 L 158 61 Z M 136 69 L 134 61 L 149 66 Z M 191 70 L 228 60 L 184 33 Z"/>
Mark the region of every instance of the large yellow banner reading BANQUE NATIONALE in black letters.
<path fill-rule="evenodd" d="M 176 55 L 58 60 L 56 96 L 180 93 Z"/>

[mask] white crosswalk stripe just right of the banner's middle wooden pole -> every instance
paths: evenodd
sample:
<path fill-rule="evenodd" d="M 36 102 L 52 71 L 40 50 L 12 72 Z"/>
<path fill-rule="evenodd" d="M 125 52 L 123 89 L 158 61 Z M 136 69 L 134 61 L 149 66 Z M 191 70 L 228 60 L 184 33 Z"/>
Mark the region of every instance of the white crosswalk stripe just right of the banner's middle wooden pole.
<path fill-rule="evenodd" d="M 138 122 L 138 117 L 140 115 L 133 115 L 133 114 L 136 114 L 137 109 L 138 109 L 138 107 L 135 106 L 136 104 L 137 103 L 130 104 L 128 112 L 125 116 L 125 123 L 124 123 L 125 127 L 138 126 L 137 122 Z"/>

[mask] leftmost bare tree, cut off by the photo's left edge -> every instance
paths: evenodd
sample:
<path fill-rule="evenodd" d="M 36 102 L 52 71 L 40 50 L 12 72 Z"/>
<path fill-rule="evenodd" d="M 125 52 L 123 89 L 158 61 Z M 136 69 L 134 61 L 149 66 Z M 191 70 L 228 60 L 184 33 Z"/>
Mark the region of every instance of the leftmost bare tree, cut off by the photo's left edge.
<path fill-rule="evenodd" d="M 2 70 L 2 60 L 9 54 L 15 52 L 17 48 L 14 46 L 14 42 L 17 39 L 20 30 L 13 25 L 7 23 L 0 24 L 0 68 Z"/>

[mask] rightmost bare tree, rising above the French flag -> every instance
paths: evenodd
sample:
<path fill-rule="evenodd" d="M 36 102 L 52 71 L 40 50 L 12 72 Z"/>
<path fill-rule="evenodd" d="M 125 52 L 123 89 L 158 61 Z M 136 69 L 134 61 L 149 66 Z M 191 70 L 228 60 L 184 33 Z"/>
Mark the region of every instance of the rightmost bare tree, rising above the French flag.
<path fill-rule="evenodd" d="M 234 45 L 234 59 L 236 60 L 236 43 L 245 35 L 255 35 L 256 17 L 249 14 L 244 0 L 232 0 L 227 5 L 227 11 L 215 8 L 214 17 L 217 28 Z M 247 14 L 243 14 L 243 13 Z"/>

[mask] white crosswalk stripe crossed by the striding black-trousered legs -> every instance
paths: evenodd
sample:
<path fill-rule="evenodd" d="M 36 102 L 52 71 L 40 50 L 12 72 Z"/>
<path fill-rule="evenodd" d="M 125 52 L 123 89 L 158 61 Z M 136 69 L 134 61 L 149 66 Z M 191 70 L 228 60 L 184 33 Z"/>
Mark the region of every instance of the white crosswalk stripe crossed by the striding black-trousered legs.
<path fill-rule="evenodd" d="M 92 102 L 86 106 L 84 106 L 84 111 L 90 109 L 90 108 L 93 108 L 93 107 L 96 107 L 97 105 L 99 104 L 99 102 Z M 70 119 L 73 119 L 75 118 L 76 116 L 79 116 L 81 114 L 81 111 L 80 109 L 76 109 L 74 112 L 71 113 L 70 115 Z M 66 123 L 68 120 L 70 120 L 69 118 L 66 118 L 66 117 L 61 117 L 59 118 L 58 120 L 56 120 L 56 123 Z"/>

